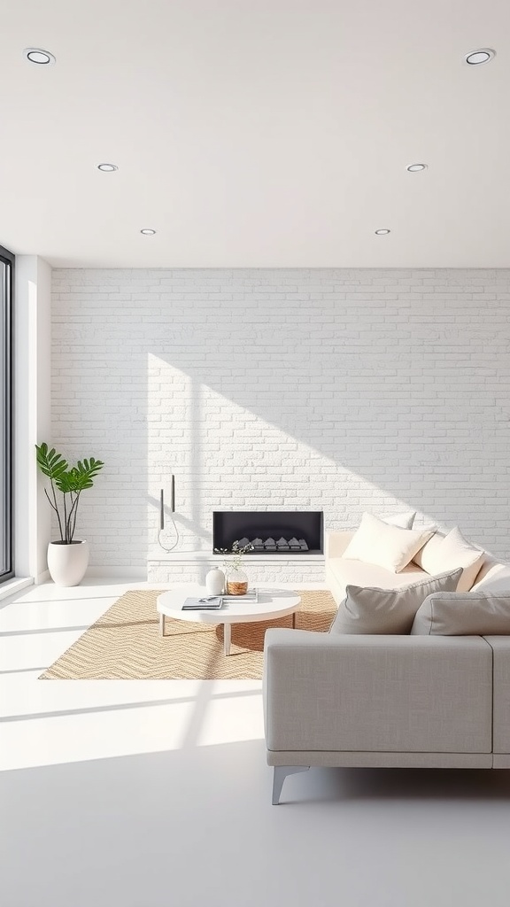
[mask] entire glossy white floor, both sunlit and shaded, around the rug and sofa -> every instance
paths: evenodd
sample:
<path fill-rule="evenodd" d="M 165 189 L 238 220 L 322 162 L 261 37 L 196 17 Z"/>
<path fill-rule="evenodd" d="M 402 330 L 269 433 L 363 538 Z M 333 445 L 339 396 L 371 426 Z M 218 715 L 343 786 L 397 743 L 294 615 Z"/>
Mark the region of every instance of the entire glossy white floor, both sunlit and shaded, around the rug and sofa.
<path fill-rule="evenodd" d="M 316 769 L 275 807 L 260 683 L 37 679 L 142 585 L 0 610 L 2 907 L 508 907 L 510 773 Z"/>

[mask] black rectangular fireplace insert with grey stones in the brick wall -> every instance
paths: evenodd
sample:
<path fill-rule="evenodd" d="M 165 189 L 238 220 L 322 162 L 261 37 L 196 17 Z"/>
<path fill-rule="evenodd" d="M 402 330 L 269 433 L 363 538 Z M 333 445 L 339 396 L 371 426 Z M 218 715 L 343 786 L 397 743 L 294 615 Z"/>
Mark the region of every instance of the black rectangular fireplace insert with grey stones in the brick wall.
<path fill-rule="evenodd" d="M 253 545 L 248 554 L 322 554 L 322 511 L 215 511 L 212 549 L 234 541 Z"/>

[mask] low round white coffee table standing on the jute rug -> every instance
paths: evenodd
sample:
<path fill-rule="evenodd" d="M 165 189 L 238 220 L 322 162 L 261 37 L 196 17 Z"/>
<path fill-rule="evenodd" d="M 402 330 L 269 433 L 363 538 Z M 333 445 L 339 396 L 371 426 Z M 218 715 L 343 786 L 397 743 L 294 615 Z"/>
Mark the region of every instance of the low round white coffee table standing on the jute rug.
<path fill-rule="evenodd" d="M 224 624 L 223 650 L 225 655 L 230 655 L 230 633 L 233 623 L 257 623 L 260 620 L 273 620 L 292 615 L 292 627 L 296 626 L 296 611 L 301 600 L 295 592 L 284 589 L 259 590 L 258 601 L 243 601 L 240 595 L 235 601 L 225 601 L 219 610 L 192 610 L 183 611 L 184 600 L 190 596 L 205 596 L 203 588 L 188 587 L 172 589 L 158 596 L 156 608 L 160 614 L 160 629 L 164 636 L 165 617 L 174 620 L 191 620 L 208 624 Z"/>

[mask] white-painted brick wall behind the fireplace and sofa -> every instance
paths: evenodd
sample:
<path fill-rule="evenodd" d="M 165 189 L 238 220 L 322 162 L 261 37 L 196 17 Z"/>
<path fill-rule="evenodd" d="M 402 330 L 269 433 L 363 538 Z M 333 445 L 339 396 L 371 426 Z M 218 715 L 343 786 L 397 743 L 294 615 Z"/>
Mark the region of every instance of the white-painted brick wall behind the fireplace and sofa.
<path fill-rule="evenodd" d="M 508 270 L 54 270 L 52 441 L 106 463 L 92 563 L 145 564 L 170 473 L 183 549 L 213 509 L 413 508 L 507 555 L 509 311 Z"/>

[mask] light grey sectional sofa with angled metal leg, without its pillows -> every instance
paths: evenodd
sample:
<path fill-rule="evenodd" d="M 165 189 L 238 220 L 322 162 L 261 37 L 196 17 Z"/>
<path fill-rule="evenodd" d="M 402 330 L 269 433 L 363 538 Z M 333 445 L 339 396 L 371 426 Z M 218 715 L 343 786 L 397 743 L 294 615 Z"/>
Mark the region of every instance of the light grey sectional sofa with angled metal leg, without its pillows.
<path fill-rule="evenodd" d="M 351 537 L 329 534 L 337 601 L 349 583 L 392 589 L 424 575 L 343 559 Z M 510 599 L 510 566 L 486 556 L 472 589 Z M 285 777 L 309 766 L 510 768 L 510 636 L 270 629 L 264 649 L 273 804 Z"/>

